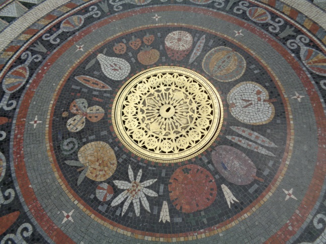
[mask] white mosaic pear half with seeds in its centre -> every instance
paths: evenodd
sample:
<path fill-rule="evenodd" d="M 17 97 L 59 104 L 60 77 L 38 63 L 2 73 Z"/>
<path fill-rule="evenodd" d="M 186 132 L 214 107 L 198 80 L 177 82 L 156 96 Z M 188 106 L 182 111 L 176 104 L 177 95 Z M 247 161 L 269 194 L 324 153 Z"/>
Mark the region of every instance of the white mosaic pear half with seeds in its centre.
<path fill-rule="evenodd" d="M 103 73 L 112 80 L 123 80 L 130 72 L 130 64 L 122 58 L 99 54 L 97 59 L 101 64 Z"/>

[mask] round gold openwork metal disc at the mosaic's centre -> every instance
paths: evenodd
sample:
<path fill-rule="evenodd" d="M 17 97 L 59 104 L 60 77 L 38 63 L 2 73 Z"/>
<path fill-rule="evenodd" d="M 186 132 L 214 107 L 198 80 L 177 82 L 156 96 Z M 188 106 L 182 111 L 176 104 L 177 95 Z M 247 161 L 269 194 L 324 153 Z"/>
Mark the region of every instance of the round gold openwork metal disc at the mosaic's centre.
<path fill-rule="evenodd" d="M 114 131 L 135 155 L 176 163 L 206 150 L 222 127 L 223 106 L 214 86 L 181 67 L 144 70 L 118 91 L 112 107 Z"/>

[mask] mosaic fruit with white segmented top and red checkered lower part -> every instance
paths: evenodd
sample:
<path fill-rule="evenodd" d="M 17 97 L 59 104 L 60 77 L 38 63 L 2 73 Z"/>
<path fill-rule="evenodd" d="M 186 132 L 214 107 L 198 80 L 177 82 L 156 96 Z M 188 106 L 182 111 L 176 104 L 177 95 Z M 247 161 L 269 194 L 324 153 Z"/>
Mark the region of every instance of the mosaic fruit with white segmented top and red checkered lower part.
<path fill-rule="evenodd" d="M 193 38 L 186 31 L 174 31 L 167 35 L 165 48 L 172 60 L 182 60 L 190 52 Z"/>

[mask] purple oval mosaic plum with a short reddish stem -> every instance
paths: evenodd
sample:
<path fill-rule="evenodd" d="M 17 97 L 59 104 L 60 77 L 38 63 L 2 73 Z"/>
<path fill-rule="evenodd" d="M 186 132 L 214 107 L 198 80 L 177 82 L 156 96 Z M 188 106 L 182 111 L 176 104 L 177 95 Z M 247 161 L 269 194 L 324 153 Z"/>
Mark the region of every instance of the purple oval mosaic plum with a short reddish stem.
<path fill-rule="evenodd" d="M 257 169 L 253 161 L 233 147 L 216 147 L 212 152 L 212 161 L 218 172 L 233 184 L 247 185 L 255 179 L 262 181 L 256 176 Z"/>

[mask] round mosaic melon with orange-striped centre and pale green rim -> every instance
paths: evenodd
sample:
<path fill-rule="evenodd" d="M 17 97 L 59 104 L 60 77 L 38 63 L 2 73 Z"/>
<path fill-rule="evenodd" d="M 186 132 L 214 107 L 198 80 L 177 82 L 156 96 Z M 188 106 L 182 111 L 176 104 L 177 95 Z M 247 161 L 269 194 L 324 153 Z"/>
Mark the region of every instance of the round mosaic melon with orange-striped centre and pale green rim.
<path fill-rule="evenodd" d="M 240 78 L 246 70 L 245 59 L 228 47 L 217 47 L 204 57 L 204 71 L 218 81 L 232 81 Z"/>

